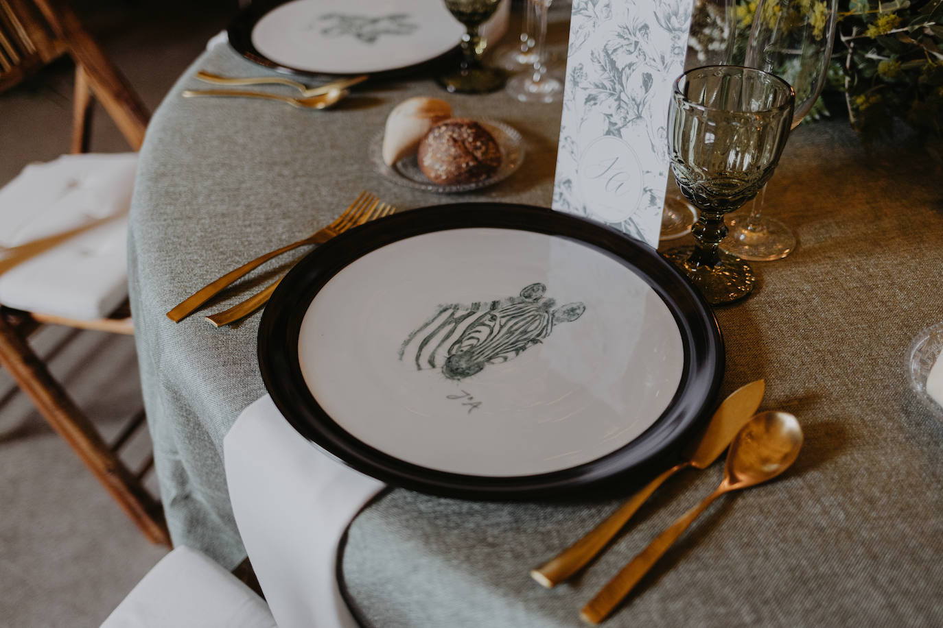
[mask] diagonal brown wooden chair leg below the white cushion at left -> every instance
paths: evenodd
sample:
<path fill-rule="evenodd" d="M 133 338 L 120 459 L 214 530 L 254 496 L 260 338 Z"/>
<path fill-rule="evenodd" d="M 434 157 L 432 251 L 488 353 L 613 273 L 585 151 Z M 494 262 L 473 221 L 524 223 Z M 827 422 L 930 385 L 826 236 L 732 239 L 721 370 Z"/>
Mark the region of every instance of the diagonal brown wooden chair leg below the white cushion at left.
<path fill-rule="evenodd" d="M 0 364 L 8 370 L 20 389 L 33 400 L 37 409 L 58 435 L 105 486 L 131 521 L 147 539 L 171 545 L 163 510 L 117 457 L 75 406 L 74 401 L 49 374 L 16 330 L 0 316 Z"/>

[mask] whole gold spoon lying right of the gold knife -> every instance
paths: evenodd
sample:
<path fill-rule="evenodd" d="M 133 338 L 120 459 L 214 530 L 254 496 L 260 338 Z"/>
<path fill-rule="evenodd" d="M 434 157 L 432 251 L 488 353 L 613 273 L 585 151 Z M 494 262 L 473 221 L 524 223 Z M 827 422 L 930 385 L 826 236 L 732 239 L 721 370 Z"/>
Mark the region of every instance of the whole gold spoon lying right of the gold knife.
<path fill-rule="evenodd" d="M 655 537 L 583 607 L 580 617 L 593 624 L 604 620 L 704 508 L 725 492 L 747 489 L 780 475 L 799 456 L 800 447 L 802 427 L 795 416 L 775 411 L 755 415 L 730 443 L 723 481 L 717 490 Z"/>

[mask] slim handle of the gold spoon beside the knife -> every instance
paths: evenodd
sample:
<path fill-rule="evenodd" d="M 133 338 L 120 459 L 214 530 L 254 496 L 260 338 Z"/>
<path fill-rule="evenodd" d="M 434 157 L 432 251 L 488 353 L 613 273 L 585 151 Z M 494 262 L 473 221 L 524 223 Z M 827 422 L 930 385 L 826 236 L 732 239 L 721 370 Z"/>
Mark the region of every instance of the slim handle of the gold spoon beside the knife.
<path fill-rule="evenodd" d="M 661 556 L 664 556 L 671 544 L 687 530 L 687 526 L 698 518 L 704 508 L 710 506 L 715 499 L 726 491 L 726 486 L 721 485 L 717 491 L 707 495 L 703 502 L 681 515 L 674 523 L 671 523 L 668 529 L 655 537 L 648 547 L 630 560 L 629 564 L 622 568 L 622 571 L 617 573 L 612 580 L 596 593 L 596 596 L 583 607 L 580 618 L 593 624 L 604 620 L 625 596 L 635 588 L 642 576 L 652 569 Z"/>

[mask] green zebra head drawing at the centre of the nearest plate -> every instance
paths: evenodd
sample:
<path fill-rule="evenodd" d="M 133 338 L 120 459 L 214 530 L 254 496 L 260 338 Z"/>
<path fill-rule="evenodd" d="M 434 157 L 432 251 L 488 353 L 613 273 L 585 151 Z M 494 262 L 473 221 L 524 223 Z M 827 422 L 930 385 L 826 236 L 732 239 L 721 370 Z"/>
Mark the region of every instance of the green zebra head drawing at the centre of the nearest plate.
<path fill-rule="evenodd" d="M 435 315 L 410 333 L 400 346 L 400 360 L 417 370 L 440 368 L 450 379 L 481 372 L 488 364 L 513 360 L 542 343 L 554 325 L 579 318 L 586 305 L 576 301 L 554 307 L 547 286 L 531 283 L 518 297 L 440 305 Z"/>

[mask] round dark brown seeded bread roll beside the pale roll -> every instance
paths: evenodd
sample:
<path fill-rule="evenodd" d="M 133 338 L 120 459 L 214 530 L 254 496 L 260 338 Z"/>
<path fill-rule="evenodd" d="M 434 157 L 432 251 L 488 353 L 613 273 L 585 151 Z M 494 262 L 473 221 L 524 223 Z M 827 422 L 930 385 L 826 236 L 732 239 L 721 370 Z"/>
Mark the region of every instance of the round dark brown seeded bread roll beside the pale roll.
<path fill-rule="evenodd" d="M 501 147 L 476 121 L 453 118 L 429 129 L 419 143 L 419 167 L 439 185 L 469 184 L 501 166 Z"/>

